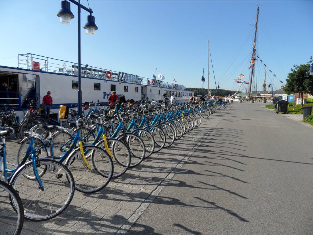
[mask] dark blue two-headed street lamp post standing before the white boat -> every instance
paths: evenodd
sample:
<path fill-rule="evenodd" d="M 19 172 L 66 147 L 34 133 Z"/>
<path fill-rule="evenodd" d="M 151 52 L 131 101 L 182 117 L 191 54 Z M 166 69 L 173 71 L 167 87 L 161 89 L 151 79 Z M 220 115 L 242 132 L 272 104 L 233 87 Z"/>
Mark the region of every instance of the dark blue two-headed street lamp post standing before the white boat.
<path fill-rule="evenodd" d="M 82 113 L 82 95 L 81 95 L 81 62 L 80 62 L 80 9 L 84 9 L 85 11 L 89 12 L 90 15 L 87 16 L 87 22 L 84 25 L 84 29 L 86 29 L 86 33 L 88 35 L 95 35 L 95 30 L 98 27 L 95 24 L 95 17 L 91 14 L 93 11 L 91 8 L 86 8 L 84 5 L 80 4 L 80 0 L 74 1 L 69 0 L 69 2 L 74 3 L 78 7 L 78 112 Z M 71 24 L 71 19 L 74 18 L 73 13 L 71 12 L 70 3 L 66 0 L 61 1 L 61 9 L 59 10 L 57 16 L 60 17 L 60 22 L 62 24 Z"/>

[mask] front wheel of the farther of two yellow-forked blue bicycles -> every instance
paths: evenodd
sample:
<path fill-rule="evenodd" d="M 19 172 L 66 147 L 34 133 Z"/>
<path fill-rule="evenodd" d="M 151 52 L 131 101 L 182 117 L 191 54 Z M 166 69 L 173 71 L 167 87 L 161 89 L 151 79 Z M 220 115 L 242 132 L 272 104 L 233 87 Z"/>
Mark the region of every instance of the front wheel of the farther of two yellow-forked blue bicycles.
<path fill-rule="evenodd" d="M 113 155 L 113 165 L 114 171 L 112 178 L 119 177 L 123 175 L 131 165 L 131 153 L 127 146 L 120 140 L 114 138 L 107 138 L 109 150 Z M 96 147 L 100 147 L 101 149 L 105 149 L 104 139 L 100 140 L 96 145 Z"/>

